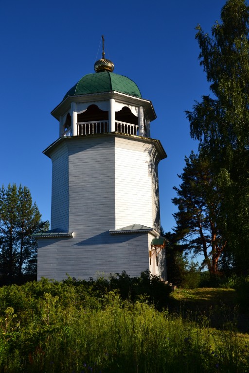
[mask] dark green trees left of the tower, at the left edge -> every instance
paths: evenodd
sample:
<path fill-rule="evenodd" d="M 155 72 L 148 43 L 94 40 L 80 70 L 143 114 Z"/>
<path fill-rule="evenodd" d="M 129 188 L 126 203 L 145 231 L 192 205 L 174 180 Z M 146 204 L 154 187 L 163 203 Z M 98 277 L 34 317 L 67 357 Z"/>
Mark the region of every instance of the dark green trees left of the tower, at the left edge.
<path fill-rule="evenodd" d="M 0 275 L 13 282 L 16 276 L 36 275 L 36 240 L 30 235 L 48 229 L 41 221 L 27 186 L 0 189 Z"/>

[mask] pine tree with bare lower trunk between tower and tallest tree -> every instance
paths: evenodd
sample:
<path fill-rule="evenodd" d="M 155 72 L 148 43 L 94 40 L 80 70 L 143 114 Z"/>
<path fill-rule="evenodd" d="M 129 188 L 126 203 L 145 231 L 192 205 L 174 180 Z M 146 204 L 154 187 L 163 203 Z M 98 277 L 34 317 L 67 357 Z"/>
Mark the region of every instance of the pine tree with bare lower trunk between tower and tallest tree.
<path fill-rule="evenodd" d="M 178 206 L 174 231 L 183 250 L 203 254 L 202 266 L 217 276 L 218 260 L 227 244 L 219 226 L 221 195 L 208 157 L 192 152 L 185 162 L 179 175 L 182 183 L 174 187 L 178 194 L 172 200 Z"/>

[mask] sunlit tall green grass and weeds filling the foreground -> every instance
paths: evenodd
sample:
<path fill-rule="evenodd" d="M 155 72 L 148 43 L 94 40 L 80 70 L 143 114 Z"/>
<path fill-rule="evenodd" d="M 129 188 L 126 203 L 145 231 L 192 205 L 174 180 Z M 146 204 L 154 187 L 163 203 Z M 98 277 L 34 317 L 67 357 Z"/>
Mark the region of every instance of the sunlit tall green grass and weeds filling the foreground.
<path fill-rule="evenodd" d="M 0 288 L 0 301 L 4 373 L 249 372 L 247 342 L 232 328 L 159 312 L 146 298 L 45 281 Z"/>

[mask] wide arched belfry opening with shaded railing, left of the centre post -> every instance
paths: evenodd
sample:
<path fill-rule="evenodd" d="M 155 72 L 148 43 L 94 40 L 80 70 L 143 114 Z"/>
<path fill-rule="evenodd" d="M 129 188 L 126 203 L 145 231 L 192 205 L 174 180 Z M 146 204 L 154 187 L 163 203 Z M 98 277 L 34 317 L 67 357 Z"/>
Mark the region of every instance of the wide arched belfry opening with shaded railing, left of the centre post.
<path fill-rule="evenodd" d="M 92 135 L 108 132 L 108 111 L 97 105 L 89 105 L 87 110 L 77 115 L 78 135 Z"/>

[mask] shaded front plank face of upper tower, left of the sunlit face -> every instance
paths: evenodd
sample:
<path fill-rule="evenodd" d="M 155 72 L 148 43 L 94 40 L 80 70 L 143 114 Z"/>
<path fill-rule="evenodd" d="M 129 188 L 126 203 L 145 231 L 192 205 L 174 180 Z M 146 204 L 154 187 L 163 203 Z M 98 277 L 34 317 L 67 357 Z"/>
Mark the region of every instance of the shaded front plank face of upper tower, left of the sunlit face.
<path fill-rule="evenodd" d="M 82 136 L 72 140 L 68 142 L 69 230 L 74 237 L 89 239 L 114 225 L 114 138 Z"/>

